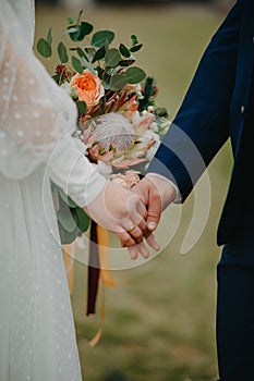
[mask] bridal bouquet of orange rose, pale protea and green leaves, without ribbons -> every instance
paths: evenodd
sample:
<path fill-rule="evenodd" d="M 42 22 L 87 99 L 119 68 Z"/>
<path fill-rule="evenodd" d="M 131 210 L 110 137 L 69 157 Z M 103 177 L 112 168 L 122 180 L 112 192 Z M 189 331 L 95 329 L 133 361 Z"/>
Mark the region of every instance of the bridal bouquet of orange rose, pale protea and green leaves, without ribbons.
<path fill-rule="evenodd" d="M 167 110 L 156 105 L 155 78 L 135 65 L 134 54 L 143 46 L 137 37 L 113 47 L 114 33 L 95 32 L 82 14 L 76 22 L 68 17 L 65 42 L 57 46 L 51 74 L 76 103 L 73 135 L 85 145 L 89 161 L 110 181 L 132 188 L 169 127 Z M 53 56 L 51 28 L 38 40 L 37 51 L 48 61 Z M 52 189 L 61 241 L 69 244 L 87 231 L 89 218 L 56 184 Z"/>

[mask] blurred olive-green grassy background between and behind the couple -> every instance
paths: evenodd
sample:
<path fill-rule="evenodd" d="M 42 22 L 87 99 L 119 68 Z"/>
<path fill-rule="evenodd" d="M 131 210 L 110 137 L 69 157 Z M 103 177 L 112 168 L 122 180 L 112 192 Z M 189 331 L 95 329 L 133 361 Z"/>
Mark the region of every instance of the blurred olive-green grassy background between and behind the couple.
<path fill-rule="evenodd" d="M 137 64 L 156 78 L 158 103 L 168 109 L 172 119 L 206 45 L 232 3 L 37 0 L 35 41 L 45 37 L 50 26 L 53 41 L 59 41 L 66 16 L 75 19 L 81 9 L 95 29 L 111 29 L 123 44 L 135 34 L 144 44 L 136 54 Z M 112 272 L 116 286 L 105 290 L 106 318 L 101 340 L 95 347 L 88 341 L 101 327 L 102 291 L 95 316 L 86 317 L 87 268 L 74 262 L 71 297 L 85 381 L 217 379 L 216 265 L 220 248 L 216 245 L 216 229 L 231 164 L 226 145 L 208 169 L 211 204 L 207 224 L 186 255 L 180 251 L 193 213 L 193 195 L 182 208 L 177 234 L 158 256 L 146 265 Z M 164 220 L 166 228 L 167 223 L 170 224 L 170 208 Z M 198 221 L 195 223 L 198 225 Z"/>

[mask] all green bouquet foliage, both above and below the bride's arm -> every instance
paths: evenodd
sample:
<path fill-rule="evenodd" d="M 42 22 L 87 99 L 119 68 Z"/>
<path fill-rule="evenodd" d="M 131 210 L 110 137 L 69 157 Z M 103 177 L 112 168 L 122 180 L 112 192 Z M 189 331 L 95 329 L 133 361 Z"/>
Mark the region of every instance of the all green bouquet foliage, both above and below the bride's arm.
<path fill-rule="evenodd" d="M 144 70 L 134 66 L 136 59 L 133 53 L 142 48 L 137 37 L 131 36 L 130 46 L 121 42 L 118 47 L 112 47 L 114 33 L 108 29 L 94 32 L 94 26 L 83 21 L 82 15 L 83 11 L 80 11 L 76 21 L 73 21 L 72 17 L 66 19 L 68 24 L 62 35 L 65 40 L 64 42 L 59 41 L 57 46 L 56 53 L 60 64 L 52 75 L 53 79 L 61 85 L 64 82 L 70 82 L 70 73 L 71 75 L 73 72 L 81 74 L 85 69 L 88 69 L 98 75 L 105 90 L 111 91 L 121 91 L 128 83 L 135 85 L 145 79 Z M 37 51 L 45 59 L 52 57 L 51 27 L 46 38 L 39 38 Z M 87 106 L 77 99 L 75 99 L 75 103 L 80 118 L 86 113 Z M 102 97 L 101 110 L 105 110 L 105 105 L 106 97 Z M 59 199 L 57 218 L 61 242 L 70 244 L 78 233 L 88 229 L 89 217 L 56 184 L 53 184 L 53 188 Z"/>

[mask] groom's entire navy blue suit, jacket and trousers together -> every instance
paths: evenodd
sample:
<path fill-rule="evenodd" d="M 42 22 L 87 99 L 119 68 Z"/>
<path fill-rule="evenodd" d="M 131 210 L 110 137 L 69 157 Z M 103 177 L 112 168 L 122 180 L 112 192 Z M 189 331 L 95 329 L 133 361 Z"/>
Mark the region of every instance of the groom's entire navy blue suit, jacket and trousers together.
<path fill-rule="evenodd" d="M 182 201 L 230 139 L 233 171 L 218 226 L 217 348 L 221 381 L 254 380 L 254 0 L 238 0 L 204 52 L 148 172 Z"/>

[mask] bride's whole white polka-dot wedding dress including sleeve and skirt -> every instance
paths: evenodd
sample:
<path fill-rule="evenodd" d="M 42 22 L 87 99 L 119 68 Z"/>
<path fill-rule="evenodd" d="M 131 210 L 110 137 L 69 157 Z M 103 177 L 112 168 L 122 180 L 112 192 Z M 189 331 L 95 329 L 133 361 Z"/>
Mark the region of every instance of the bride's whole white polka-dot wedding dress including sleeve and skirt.
<path fill-rule="evenodd" d="M 0 7 L 0 381 L 81 381 L 49 179 L 80 206 L 105 180 L 70 137 L 74 102 L 32 51 L 33 5 Z"/>

